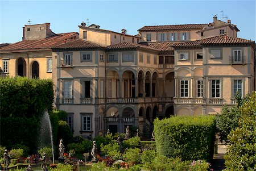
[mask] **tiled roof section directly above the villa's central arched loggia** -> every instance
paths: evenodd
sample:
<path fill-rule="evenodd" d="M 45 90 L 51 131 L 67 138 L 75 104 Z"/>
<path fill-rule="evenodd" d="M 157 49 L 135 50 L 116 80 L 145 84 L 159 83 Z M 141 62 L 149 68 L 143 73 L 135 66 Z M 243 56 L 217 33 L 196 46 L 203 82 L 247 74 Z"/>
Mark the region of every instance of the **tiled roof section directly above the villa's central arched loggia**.
<path fill-rule="evenodd" d="M 148 47 L 147 45 L 143 44 L 135 44 L 130 42 L 122 42 L 119 44 L 109 45 L 108 49 L 133 49 L 133 48 L 142 48 L 142 49 L 148 49 L 153 51 L 159 51 L 156 48 Z"/>

